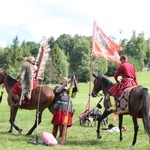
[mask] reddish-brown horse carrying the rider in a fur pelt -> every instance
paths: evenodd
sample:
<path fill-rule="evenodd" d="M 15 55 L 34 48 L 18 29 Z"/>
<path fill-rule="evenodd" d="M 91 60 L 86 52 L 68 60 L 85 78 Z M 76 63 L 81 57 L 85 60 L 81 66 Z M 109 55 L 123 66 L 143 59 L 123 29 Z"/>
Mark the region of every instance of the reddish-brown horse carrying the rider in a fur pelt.
<path fill-rule="evenodd" d="M 17 80 L 13 79 L 11 76 L 9 76 L 5 71 L 0 70 L 0 84 L 3 84 L 7 93 L 8 93 L 8 104 L 10 106 L 10 119 L 9 122 L 11 124 L 9 132 L 12 132 L 13 127 L 22 134 L 22 129 L 20 129 L 18 126 L 15 125 L 15 118 L 17 115 L 18 108 L 14 107 L 14 99 L 12 98 L 12 91 L 11 88 L 13 85 L 17 82 Z M 21 105 L 22 109 L 27 110 L 35 110 L 36 109 L 36 117 L 35 123 L 32 126 L 32 128 L 28 131 L 26 135 L 32 134 L 32 132 L 37 127 L 37 121 L 38 124 L 41 123 L 42 119 L 42 113 L 43 111 L 48 108 L 51 112 L 53 112 L 53 100 L 54 100 L 54 92 L 52 88 L 49 88 L 48 86 L 37 86 L 31 95 L 31 104 L 30 105 Z M 38 119 L 38 120 L 37 120 Z"/>

